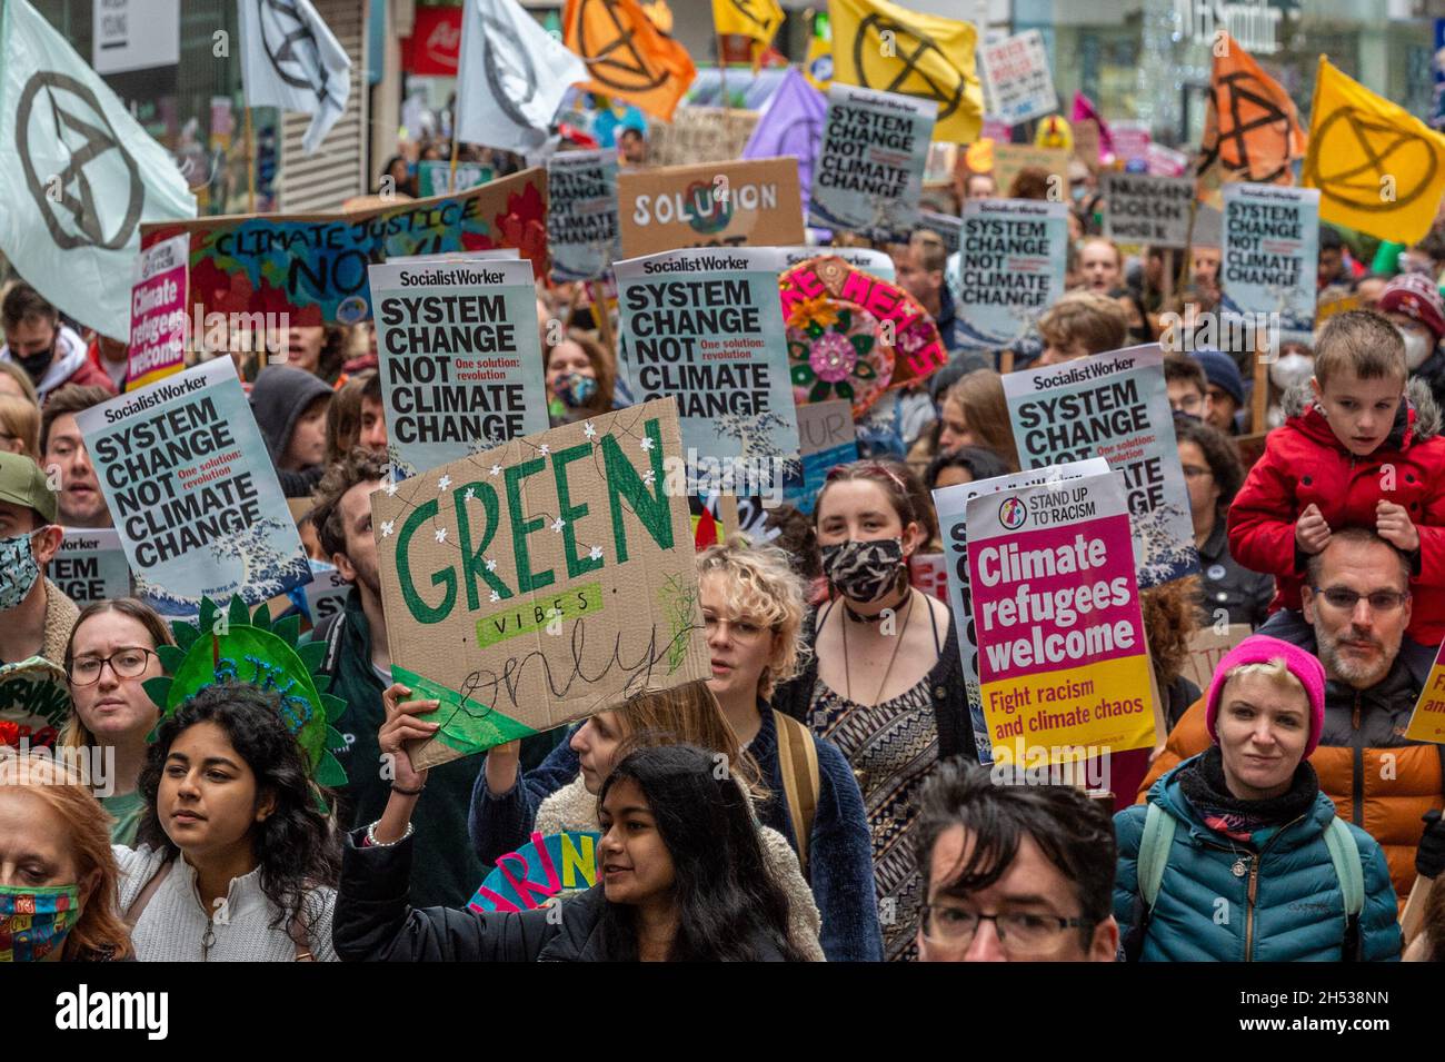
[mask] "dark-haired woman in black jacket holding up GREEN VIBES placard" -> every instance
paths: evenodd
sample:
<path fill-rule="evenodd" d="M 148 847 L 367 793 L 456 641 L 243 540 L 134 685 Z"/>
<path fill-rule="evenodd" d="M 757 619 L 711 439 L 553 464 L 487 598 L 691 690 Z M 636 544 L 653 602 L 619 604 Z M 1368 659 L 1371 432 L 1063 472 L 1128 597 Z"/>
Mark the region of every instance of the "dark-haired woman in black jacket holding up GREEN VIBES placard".
<path fill-rule="evenodd" d="M 384 699 L 380 746 L 394 779 L 377 822 L 348 835 L 337 900 L 342 959 L 608 962 L 798 961 L 788 897 L 767 870 L 753 806 L 695 746 L 637 748 L 598 789 L 601 883 L 549 909 L 478 913 L 406 902 L 412 811 L 426 785 L 406 741 L 431 737 L 434 701 Z"/>

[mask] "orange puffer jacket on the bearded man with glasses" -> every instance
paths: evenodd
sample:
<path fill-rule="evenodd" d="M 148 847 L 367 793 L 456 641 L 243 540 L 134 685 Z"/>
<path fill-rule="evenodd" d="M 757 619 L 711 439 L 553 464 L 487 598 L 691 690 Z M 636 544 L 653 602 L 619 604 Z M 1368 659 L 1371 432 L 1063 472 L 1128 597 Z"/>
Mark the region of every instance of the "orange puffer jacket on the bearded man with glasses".
<path fill-rule="evenodd" d="M 1308 649 L 1314 650 L 1312 642 Z M 1327 683 L 1324 733 L 1309 757 L 1319 789 L 1335 802 L 1340 818 L 1380 842 L 1402 903 L 1415 884 L 1415 850 L 1425 832 L 1420 816 L 1445 803 L 1445 746 L 1405 737 L 1422 679 L 1412 673 L 1402 652 L 1390 673 L 1370 689 Z M 1139 803 L 1165 772 L 1209 747 L 1204 714 L 1202 696 L 1169 733 L 1139 787 Z"/>

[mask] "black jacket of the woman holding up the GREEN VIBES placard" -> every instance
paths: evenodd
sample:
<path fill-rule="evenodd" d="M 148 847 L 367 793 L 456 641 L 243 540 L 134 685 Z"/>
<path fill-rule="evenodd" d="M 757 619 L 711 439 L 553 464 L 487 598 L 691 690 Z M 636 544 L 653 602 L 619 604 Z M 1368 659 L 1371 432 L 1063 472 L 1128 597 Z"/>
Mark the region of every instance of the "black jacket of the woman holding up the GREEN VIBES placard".
<path fill-rule="evenodd" d="M 412 838 L 360 847 L 347 835 L 331 941 L 345 962 L 613 962 L 600 928 L 607 897 L 597 884 L 548 910 L 481 915 L 470 907 L 412 907 Z M 783 961 L 776 946 L 759 954 Z"/>

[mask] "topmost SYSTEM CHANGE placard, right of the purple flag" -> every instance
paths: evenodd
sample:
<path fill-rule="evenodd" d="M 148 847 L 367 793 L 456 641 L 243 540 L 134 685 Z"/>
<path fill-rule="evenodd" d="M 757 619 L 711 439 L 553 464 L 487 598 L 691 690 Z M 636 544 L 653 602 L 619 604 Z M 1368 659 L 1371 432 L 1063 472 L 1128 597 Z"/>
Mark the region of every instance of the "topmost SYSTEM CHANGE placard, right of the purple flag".
<path fill-rule="evenodd" d="M 938 104 L 834 84 L 812 173 L 808 224 L 903 241 L 918 225 Z"/>

